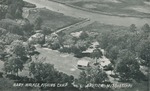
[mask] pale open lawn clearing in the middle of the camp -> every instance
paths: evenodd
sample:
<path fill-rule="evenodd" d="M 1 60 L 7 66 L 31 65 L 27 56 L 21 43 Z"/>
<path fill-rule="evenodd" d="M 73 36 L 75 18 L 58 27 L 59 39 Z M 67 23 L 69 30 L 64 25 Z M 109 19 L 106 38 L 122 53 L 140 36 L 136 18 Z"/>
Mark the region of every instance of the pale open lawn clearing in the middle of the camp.
<path fill-rule="evenodd" d="M 44 63 L 54 64 L 54 68 L 58 71 L 78 78 L 81 72 L 81 70 L 77 68 L 77 62 L 80 60 L 79 58 L 74 57 L 72 54 L 60 53 L 57 50 L 48 48 L 37 48 L 37 51 L 40 52 L 39 58 L 46 58 L 46 60 L 43 60 Z M 90 58 L 84 59 L 92 61 Z"/>

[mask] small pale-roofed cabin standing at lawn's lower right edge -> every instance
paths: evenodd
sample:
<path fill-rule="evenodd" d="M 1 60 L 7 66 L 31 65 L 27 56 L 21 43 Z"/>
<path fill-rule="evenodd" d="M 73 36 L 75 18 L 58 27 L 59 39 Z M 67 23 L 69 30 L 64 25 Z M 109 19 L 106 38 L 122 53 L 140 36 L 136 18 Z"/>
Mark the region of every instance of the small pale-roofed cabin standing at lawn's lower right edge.
<path fill-rule="evenodd" d="M 90 61 L 87 61 L 87 60 L 79 60 L 77 62 L 77 67 L 79 69 L 86 69 L 88 67 L 90 67 Z"/>

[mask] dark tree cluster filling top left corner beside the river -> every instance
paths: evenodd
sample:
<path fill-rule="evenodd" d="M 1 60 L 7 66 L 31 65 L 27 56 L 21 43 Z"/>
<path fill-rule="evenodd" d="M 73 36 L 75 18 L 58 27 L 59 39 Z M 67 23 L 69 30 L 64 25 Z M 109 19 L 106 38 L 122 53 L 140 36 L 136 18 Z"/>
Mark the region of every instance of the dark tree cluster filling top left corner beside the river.
<path fill-rule="evenodd" d="M 19 19 L 22 18 L 23 7 L 36 7 L 34 4 L 24 2 L 23 0 L 2 0 L 0 4 L 0 19 Z"/>

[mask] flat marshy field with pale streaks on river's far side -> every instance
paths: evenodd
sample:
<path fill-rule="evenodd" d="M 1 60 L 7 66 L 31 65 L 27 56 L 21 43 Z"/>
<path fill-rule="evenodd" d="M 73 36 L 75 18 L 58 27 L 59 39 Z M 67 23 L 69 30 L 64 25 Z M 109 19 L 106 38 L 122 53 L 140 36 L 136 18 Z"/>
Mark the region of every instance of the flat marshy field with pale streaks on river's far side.
<path fill-rule="evenodd" d="M 54 0 L 87 10 L 112 15 L 149 17 L 150 4 L 144 0 Z"/>

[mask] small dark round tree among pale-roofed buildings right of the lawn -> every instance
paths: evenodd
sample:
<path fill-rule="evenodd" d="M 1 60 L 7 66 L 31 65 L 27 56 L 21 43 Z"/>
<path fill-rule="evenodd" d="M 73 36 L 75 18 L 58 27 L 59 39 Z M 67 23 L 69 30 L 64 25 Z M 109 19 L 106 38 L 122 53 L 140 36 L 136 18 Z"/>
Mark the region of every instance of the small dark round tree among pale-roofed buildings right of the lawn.
<path fill-rule="evenodd" d="M 96 60 L 96 64 L 97 64 L 97 60 L 99 58 L 102 58 L 102 56 L 103 56 L 103 53 L 98 48 L 94 49 L 93 52 L 91 53 L 91 58 Z"/>

